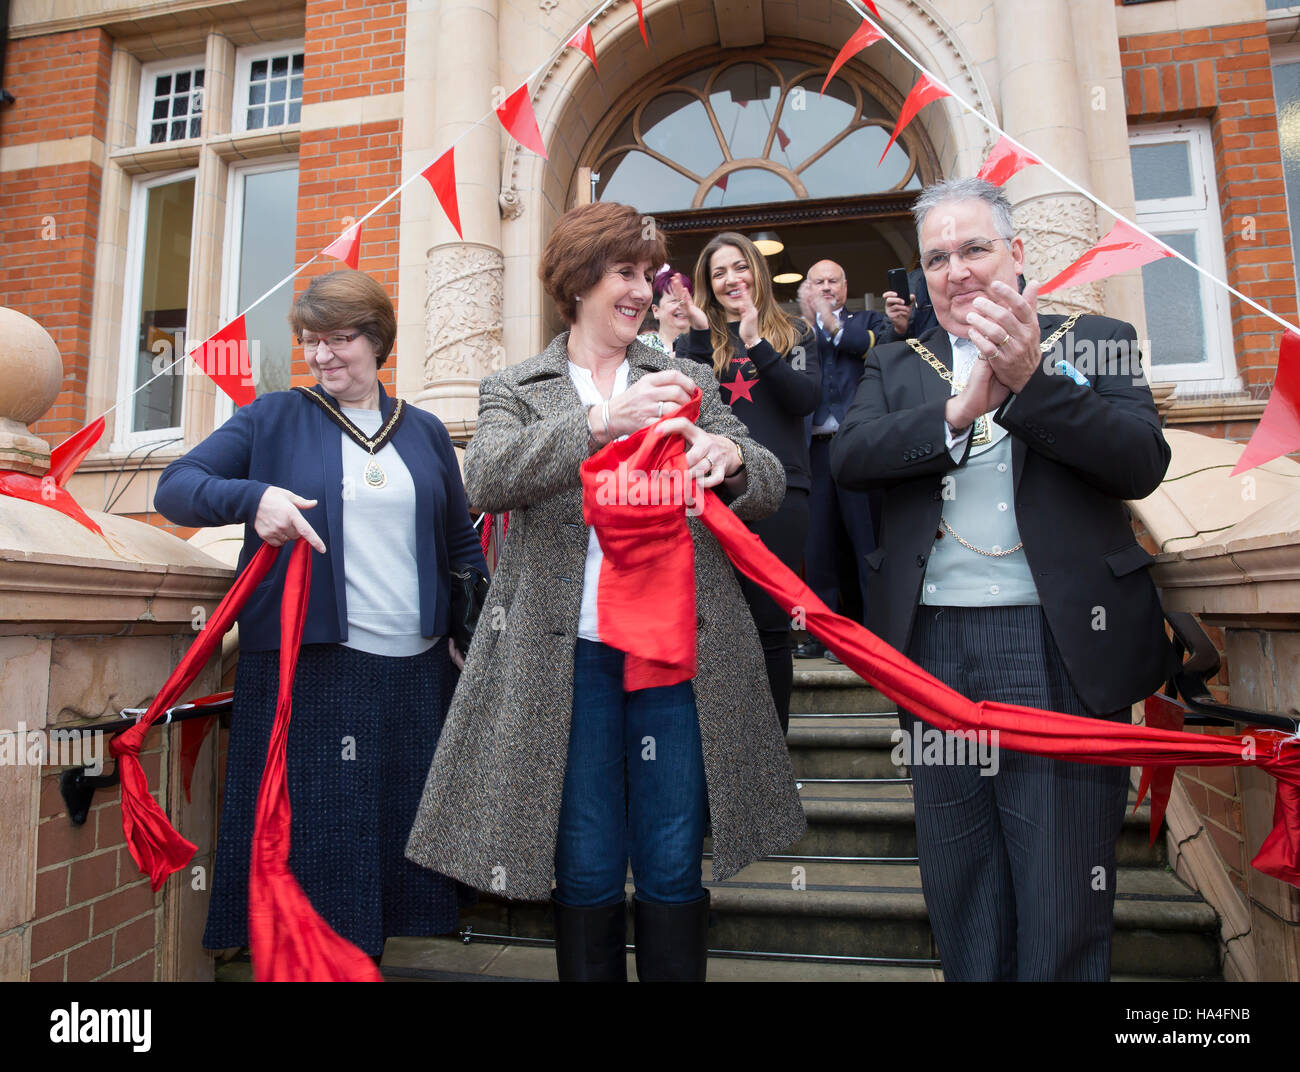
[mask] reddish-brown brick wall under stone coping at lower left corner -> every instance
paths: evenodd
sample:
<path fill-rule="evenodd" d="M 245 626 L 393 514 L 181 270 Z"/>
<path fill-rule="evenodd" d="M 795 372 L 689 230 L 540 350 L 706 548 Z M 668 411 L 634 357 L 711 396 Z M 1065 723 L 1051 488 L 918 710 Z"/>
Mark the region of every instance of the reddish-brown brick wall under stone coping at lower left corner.
<path fill-rule="evenodd" d="M 161 803 L 159 737 L 152 734 L 153 751 L 140 755 L 140 765 Z M 150 889 L 126 849 L 121 790 L 96 791 L 86 824 L 73 826 L 58 791 L 61 774 L 46 771 L 40 780 L 31 980 L 151 982 L 157 973 L 161 895 Z"/>

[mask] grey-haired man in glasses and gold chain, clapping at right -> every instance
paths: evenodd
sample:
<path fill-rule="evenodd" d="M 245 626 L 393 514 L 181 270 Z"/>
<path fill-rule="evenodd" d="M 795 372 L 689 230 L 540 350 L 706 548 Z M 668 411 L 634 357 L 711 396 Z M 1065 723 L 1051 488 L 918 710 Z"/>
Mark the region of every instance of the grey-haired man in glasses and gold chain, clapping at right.
<path fill-rule="evenodd" d="M 971 699 L 1127 720 L 1173 669 L 1124 507 L 1170 459 L 1136 334 L 1037 314 L 998 187 L 914 213 L 939 326 L 871 351 L 831 448 L 842 486 L 884 489 L 867 625 Z M 945 977 L 1106 978 L 1128 769 L 907 755 Z"/>

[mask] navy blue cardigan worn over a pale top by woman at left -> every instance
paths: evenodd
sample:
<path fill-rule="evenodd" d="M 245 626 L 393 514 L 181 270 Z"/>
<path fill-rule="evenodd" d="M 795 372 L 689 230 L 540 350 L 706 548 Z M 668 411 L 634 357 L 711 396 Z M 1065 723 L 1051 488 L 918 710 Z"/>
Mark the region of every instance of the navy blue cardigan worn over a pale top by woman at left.
<path fill-rule="evenodd" d="M 396 402 L 380 385 L 380 411 L 387 420 Z M 420 632 L 448 632 L 448 567 L 473 564 L 488 573 L 478 534 L 469 522 L 465 489 L 451 439 L 442 421 L 415 405 L 393 435 L 393 446 L 415 482 L 416 574 L 420 581 Z M 298 391 L 263 395 L 235 415 L 159 479 L 153 503 L 177 525 L 244 524 L 239 568 L 261 546 L 254 531 L 257 503 L 270 485 L 316 499 L 303 511 L 325 542 L 312 552 L 312 594 L 304 644 L 347 639 L 347 587 L 343 581 L 342 433 L 324 411 Z M 376 531 L 374 539 L 387 539 Z M 280 647 L 280 596 L 289 555 L 281 555 L 239 616 L 239 647 Z"/>

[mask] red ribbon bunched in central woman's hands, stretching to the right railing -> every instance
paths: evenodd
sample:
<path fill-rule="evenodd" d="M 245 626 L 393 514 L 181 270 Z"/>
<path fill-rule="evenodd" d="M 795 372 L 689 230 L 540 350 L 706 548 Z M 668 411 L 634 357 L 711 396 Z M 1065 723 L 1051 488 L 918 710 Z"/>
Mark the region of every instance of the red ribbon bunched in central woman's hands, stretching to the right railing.
<path fill-rule="evenodd" d="M 664 420 L 684 416 L 694 420 L 699 413 L 699 391 L 677 413 Z M 611 557 L 606 551 L 606 564 L 601 573 L 601 635 L 618 635 L 623 651 L 651 665 L 667 665 L 676 672 L 676 663 L 663 657 L 663 632 L 666 611 L 680 616 L 680 606 L 686 600 L 681 593 L 668 591 L 672 578 L 680 577 L 680 546 L 689 552 L 690 541 L 685 525 L 668 524 L 660 505 L 611 495 L 621 487 L 640 487 L 633 473 L 637 465 L 656 464 L 660 469 L 681 470 L 685 466 L 682 440 L 670 437 L 671 447 L 646 446 L 658 438 L 654 425 L 621 443 L 611 443 L 582 465 L 584 516 L 594 525 L 601 547 L 606 547 L 606 531 L 611 546 L 619 548 Z M 612 477 L 610 476 L 612 473 Z M 684 479 L 680 477 L 679 479 Z M 664 474 L 646 470 L 645 487 L 664 486 Z M 612 482 L 611 482 L 612 481 Z M 621 483 L 620 483 L 621 482 Z M 599 489 L 607 491 L 601 495 Z M 712 491 L 693 489 L 692 495 L 702 507 L 699 520 L 722 544 L 732 564 L 759 585 L 781 607 L 794 615 L 802 611 L 809 632 L 831 648 L 845 665 L 855 670 L 867 683 L 879 689 L 900 707 L 906 708 L 926 722 L 942 730 L 997 730 L 998 745 L 1019 752 L 1045 755 L 1076 763 L 1100 763 L 1130 767 L 1173 768 L 1179 764 L 1201 767 L 1256 765 L 1278 781 L 1274 829 L 1264 842 L 1253 864 L 1265 874 L 1300 886 L 1300 742 L 1277 730 L 1260 729 L 1240 737 L 1202 735 L 1109 722 L 1079 715 L 1062 715 L 1018 704 L 984 700 L 974 703 L 928 674 L 901 652 L 892 648 L 874 633 L 854 621 L 832 613 L 811 589 L 781 564 L 763 542 L 736 517 Z M 679 507 L 680 509 L 680 507 Z M 644 539 L 650 547 L 640 552 L 630 568 L 623 560 L 627 533 L 640 517 Z M 640 572 L 651 555 L 663 556 L 667 564 L 664 580 L 656 587 L 641 583 Z M 604 572 L 611 580 L 628 569 L 632 589 L 606 603 Z M 693 604 L 693 599 L 689 600 Z M 693 606 L 692 606 L 693 609 Z M 684 628 L 680 622 L 675 629 Z M 679 634 L 676 642 L 696 648 L 694 633 Z M 690 638 L 690 639 L 686 639 Z M 680 656 L 684 659 L 685 656 Z M 679 659 L 679 661 L 680 661 Z M 671 676 L 666 672 L 666 677 Z"/>

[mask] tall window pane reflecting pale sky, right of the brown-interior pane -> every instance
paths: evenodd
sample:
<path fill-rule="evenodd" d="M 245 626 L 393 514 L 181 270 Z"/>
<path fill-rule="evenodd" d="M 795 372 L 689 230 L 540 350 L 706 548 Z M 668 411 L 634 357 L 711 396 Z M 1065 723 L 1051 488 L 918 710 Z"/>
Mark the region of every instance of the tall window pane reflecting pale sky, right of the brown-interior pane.
<path fill-rule="evenodd" d="M 238 283 L 240 309 L 294 270 L 298 168 L 247 175 L 242 209 Z M 259 395 L 289 390 L 292 338 L 286 317 L 292 298 L 292 287 L 281 287 L 246 316 L 254 390 Z"/>

